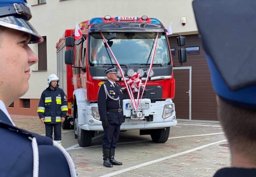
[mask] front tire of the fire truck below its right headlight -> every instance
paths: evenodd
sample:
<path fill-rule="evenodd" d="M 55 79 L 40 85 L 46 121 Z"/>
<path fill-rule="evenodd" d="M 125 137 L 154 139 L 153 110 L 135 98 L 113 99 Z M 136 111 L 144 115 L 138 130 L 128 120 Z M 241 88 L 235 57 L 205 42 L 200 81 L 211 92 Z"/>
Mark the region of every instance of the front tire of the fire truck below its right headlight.
<path fill-rule="evenodd" d="M 170 134 L 170 127 L 155 129 L 152 131 L 151 138 L 153 142 L 164 143 L 167 142 Z"/>

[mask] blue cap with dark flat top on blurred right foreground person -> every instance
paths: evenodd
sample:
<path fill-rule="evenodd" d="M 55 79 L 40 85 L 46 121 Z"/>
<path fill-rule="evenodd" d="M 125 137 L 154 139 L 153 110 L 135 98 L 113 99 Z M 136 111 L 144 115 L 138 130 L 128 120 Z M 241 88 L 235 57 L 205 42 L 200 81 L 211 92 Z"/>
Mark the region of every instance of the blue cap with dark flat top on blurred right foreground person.
<path fill-rule="evenodd" d="M 215 92 L 256 110 L 255 0 L 194 0 L 192 6 Z"/>

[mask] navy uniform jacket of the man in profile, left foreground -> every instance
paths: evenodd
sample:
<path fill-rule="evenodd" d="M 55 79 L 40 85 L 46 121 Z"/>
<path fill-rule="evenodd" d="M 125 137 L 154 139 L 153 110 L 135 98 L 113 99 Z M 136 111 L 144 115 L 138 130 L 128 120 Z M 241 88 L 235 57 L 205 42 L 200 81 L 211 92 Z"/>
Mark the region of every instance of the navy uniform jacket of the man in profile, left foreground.
<path fill-rule="evenodd" d="M 33 155 L 33 137 L 38 155 Z M 39 177 L 71 176 L 67 159 L 52 139 L 14 127 L 0 110 L 0 177 L 32 177 L 33 157 L 39 158 Z"/>

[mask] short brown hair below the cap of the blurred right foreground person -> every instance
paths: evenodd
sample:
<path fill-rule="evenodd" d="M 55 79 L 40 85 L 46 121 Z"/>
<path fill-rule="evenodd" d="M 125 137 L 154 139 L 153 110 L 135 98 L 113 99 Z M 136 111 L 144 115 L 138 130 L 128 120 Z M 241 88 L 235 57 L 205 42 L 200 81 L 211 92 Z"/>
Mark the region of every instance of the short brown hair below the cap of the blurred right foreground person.
<path fill-rule="evenodd" d="M 218 96 L 218 118 L 230 149 L 256 163 L 256 111 L 233 106 Z"/>

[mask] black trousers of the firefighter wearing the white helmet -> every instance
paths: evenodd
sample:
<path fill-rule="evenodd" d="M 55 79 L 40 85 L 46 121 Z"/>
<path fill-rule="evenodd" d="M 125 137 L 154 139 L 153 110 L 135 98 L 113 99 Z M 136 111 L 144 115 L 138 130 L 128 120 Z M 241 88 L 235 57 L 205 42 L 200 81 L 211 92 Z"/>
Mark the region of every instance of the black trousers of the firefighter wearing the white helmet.
<path fill-rule="evenodd" d="M 61 141 L 61 123 L 45 123 L 45 136 L 52 139 L 54 129 L 54 140 Z"/>

